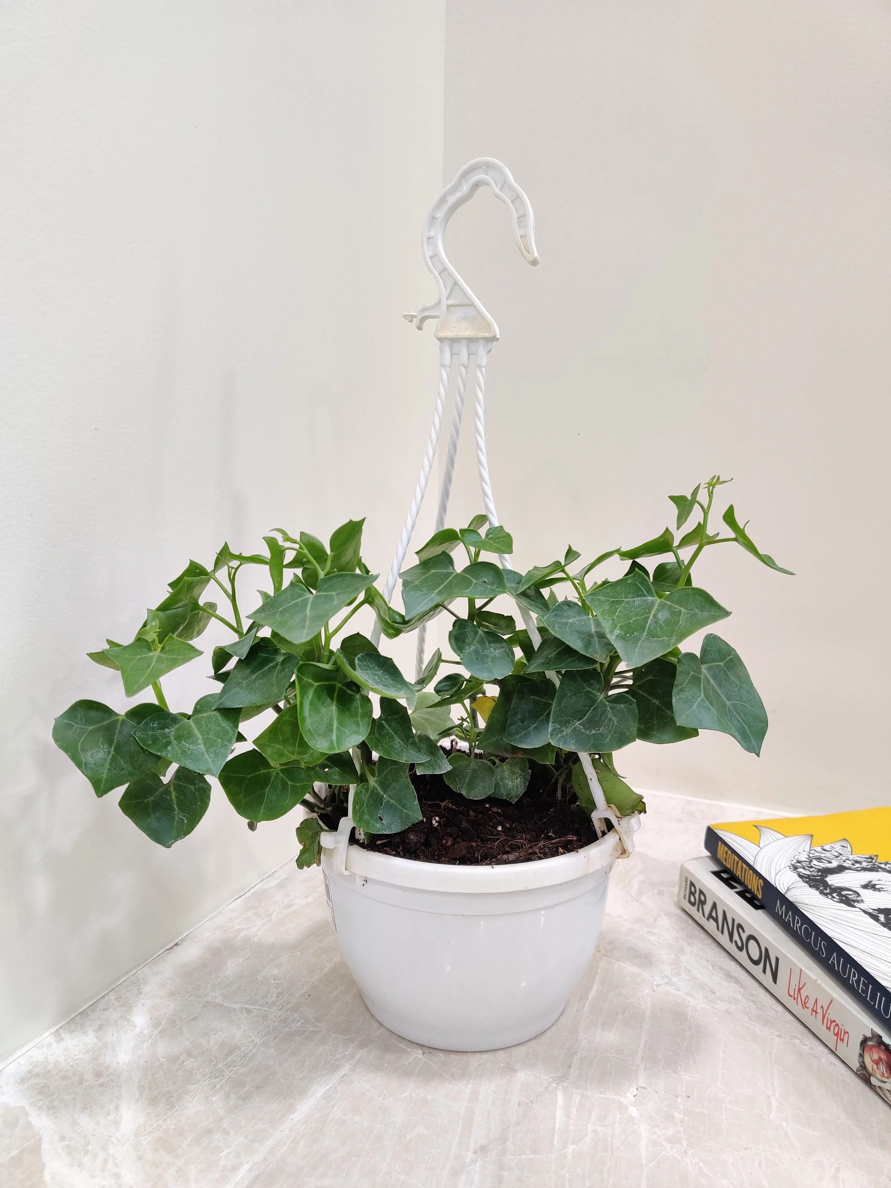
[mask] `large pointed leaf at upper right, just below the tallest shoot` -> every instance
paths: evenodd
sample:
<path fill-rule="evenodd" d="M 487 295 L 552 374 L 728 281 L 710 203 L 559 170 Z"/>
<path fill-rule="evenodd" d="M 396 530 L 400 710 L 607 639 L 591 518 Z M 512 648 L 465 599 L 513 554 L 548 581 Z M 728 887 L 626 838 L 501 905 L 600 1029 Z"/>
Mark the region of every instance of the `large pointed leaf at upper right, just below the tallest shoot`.
<path fill-rule="evenodd" d="M 695 631 L 729 614 L 695 586 L 657 598 L 650 579 L 638 571 L 617 582 L 604 582 L 586 601 L 628 668 L 656 659 Z"/>

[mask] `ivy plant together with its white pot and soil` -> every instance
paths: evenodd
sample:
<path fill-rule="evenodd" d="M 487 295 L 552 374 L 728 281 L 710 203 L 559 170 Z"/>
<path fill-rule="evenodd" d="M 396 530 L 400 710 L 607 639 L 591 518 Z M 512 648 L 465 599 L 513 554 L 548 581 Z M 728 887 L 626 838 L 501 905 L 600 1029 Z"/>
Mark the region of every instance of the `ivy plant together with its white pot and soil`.
<path fill-rule="evenodd" d="M 670 497 L 676 531 L 696 520 L 678 539 L 666 527 L 583 565 L 570 548 L 516 573 L 495 563 L 513 551 L 504 527 L 479 516 L 446 529 L 402 574 L 402 611 L 361 560 L 362 520 L 328 545 L 282 530 L 266 552 L 225 544 L 210 567 L 189 563 L 132 642 L 89 653 L 127 697 L 151 689 L 154 702 L 77 701 L 53 740 L 97 796 L 122 786 L 120 809 L 162 846 L 198 824 L 208 777 L 252 829 L 302 805 L 297 866 L 321 862 L 372 1012 L 434 1047 L 518 1043 L 557 1018 L 588 965 L 609 870 L 645 810 L 615 753 L 700 729 L 760 751 L 767 718 L 733 647 L 715 634 L 699 656 L 678 646 L 729 614 L 693 584 L 707 548 L 733 542 L 788 573 L 732 505 L 727 531 L 709 531 L 721 485 Z M 599 580 L 611 560 L 627 570 Z M 246 567 L 270 584 L 248 614 Z M 204 600 L 211 587 L 217 601 Z M 448 614 L 453 655 L 435 651 L 407 680 L 348 630 L 362 607 L 391 639 Z M 535 617 L 537 646 L 517 608 Z M 232 634 L 210 655 L 220 688 L 173 710 L 163 678 L 202 655 L 194 640 L 211 620 Z M 241 729 L 260 715 L 248 742 Z"/>

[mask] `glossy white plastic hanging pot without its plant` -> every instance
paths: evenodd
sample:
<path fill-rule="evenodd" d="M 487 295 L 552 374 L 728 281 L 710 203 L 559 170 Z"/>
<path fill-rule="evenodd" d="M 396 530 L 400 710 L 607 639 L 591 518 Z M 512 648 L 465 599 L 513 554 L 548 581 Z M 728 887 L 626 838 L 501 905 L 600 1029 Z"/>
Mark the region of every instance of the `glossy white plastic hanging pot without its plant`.
<path fill-rule="evenodd" d="M 340 952 L 372 1015 L 425 1047 L 485 1051 L 558 1018 L 594 953 L 621 853 L 615 830 L 511 866 L 343 846 L 323 851 L 322 871 Z"/>

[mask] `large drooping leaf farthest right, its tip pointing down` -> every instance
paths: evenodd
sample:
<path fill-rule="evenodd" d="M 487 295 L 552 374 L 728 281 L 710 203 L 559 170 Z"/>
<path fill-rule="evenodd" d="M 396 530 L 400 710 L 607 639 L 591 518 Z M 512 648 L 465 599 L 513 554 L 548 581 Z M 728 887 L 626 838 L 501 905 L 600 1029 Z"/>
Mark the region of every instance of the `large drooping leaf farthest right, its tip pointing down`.
<path fill-rule="evenodd" d="M 720 636 L 706 636 L 699 659 L 693 652 L 681 656 L 672 703 L 680 726 L 721 731 L 744 751 L 760 754 L 767 733 L 764 702 L 745 664 Z"/>

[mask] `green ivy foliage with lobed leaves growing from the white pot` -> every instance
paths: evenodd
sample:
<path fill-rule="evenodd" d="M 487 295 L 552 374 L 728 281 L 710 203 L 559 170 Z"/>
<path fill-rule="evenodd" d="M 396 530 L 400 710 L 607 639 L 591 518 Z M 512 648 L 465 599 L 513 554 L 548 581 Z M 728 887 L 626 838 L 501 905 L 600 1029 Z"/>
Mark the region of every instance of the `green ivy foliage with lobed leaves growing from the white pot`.
<path fill-rule="evenodd" d="M 723 535 L 709 531 L 722 485 L 715 475 L 689 495 L 671 495 L 675 530 L 581 567 L 569 548 L 526 573 L 503 568 L 513 539 L 478 516 L 418 549 L 417 564 L 402 574 L 402 611 L 385 601 L 361 558 L 364 520 L 348 520 L 327 545 L 282 529 L 264 537 L 266 552 L 223 544 L 210 567 L 189 562 L 131 643 L 108 639 L 88 653 L 120 672 L 127 697 L 151 689 L 154 702 L 119 713 L 76 701 L 56 719 L 53 740 L 96 796 L 124 788 L 121 811 L 162 846 L 198 824 L 209 777 L 253 829 L 302 803 L 310 815 L 297 828 L 298 866 L 318 861 L 320 836 L 347 814 L 350 788 L 353 821 L 366 834 L 419 821 L 417 777 L 441 776 L 469 800 L 514 802 L 537 770 L 592 813 L 579 762 L 587 752 L 607 803 L 620 815 L 642 811 L 640 796 L 617 772 L 617 751 L 710 729 L 758 754 L 767 729 L 728 643 L 708 633 L 699 655 L 680 647 L 729 614 L 693 584 L 707 548 L 735 543 L 789 573 L 757 548 L 733 505 Z M 652 573 L 642 563 L 661 557 Z M 598 581 L 612 558 L 630 562 L 627 571 Z M 245 614 L 236 586 L 247 567 L 259 567 L 270 589 Z M 217 601 L 204 600 L 211 589 Z M 390 639 L 449 614 L 454 655 L 435 651 L 410 681 L 367 636 L 345 630 L 362 607 Z M 172 710 L 162 681 L 204 655 L 192 642 L 211 621 L 232 636 L 210 653 L 219 688 L 189 712 Z M 260 714 L 268 722 L 248 744 L 240 727 Z M 446 738 L 466 750 L 447 752 Z"/>

